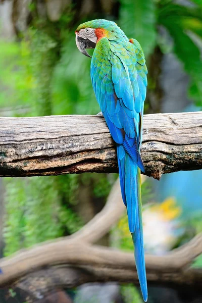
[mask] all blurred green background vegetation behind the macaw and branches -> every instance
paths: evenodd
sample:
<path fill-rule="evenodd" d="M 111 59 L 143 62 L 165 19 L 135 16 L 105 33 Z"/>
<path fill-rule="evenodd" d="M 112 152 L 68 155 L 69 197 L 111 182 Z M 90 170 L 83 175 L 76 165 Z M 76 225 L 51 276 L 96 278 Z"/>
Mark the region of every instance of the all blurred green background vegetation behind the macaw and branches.
<path fill-rule="evenodd" d="M 90 60 L 77 51 L 74 34 L 81 22 L 95 18 L 116 21 L 128 37 L 136 38 L 142 45 L 149 70 L 145 113 L 162 112 L 164 108 L 163 74 L 165 60 L 170 55 L 179 65 L 177 73 L 188 75 L 188 86 L 183 84 L 188 104 L 201 108 L 200 0 L 58 0 L 40 2 L 40 5 L 37 1 L 24 4 L 15 1 L 10 3 L 10 15 L 5 8 L 7 2 L 3 1 L 0 6 L 1 115 L 19 117 L 99 112 L 89 76 Z M 170 77 L 175 78 L 176 74 L 171 73 Z M 173 86 L 170 87 L 172 89 Z M 183 110 L 186 104 L 182 97 L 180 99 L 179 91 L 175 97 Z M 105 174 L 5 179 L 4 256 L 22 247 L 78 230 L 102 209 L 115 179 L 115 175 Z M 147 182 L 144 187 L 144 200 L 155 200 L 154 195 L 148 192 L 151 186 Z M 169 210 L 165 212 L 169 213 Z M 170 248 L 201 231 L 199 221 L 196 216 L 186 224 L 181 222 L 183 232 Z M 125 226 L 124 222 L 123 218 L 117 230 Z M 127 237 L 127 232 L 121 233 L 121 244 L 114 243 L 114 240 L 111 243 L 132 249 L 130 244 L 128 247 Z M 109 245 L 109 237 L 103 243 Z M 196 264 L 201 266 L 200 259 Z M 122 289 L 126 302 L 132 302 L 130 296 L 133 291 L 133 286 L 129 286 L 129 292 L 127 287 Z M 137 295 L 134 301 L 140 302 L 141 298 Z"/>

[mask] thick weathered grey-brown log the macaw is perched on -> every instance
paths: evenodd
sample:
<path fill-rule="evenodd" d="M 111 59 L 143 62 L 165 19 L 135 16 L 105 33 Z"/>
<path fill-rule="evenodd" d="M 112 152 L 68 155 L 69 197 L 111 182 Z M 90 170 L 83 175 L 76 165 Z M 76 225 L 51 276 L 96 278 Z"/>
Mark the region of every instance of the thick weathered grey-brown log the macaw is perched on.
<path fill-rule="evenodd" d="M 144 116 L 146 175 L 202 168 L 202 112 Z M 0 176 L 118 172 L 100 116 L 0 118 Z"/>

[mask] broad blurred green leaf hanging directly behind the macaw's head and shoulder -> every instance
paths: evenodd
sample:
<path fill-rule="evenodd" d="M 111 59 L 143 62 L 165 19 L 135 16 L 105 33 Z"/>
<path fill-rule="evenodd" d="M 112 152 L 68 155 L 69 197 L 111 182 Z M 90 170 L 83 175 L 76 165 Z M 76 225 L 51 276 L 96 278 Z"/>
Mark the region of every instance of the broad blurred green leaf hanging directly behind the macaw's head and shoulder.
<path fill-rule="evenodd" d="M 120 26 L 129 38 L 135 38 L 145 57 L 153 52 L 156 41 L 154 0 L 121 0 Z"/>

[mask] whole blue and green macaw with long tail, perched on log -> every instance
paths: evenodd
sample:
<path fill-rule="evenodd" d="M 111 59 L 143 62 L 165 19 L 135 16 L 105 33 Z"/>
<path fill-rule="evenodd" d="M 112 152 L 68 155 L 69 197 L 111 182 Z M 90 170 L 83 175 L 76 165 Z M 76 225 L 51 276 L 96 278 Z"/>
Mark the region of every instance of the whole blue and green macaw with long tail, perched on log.
<path fill-rule="evenodd" d="M 120 27 L 108 20 L 92 20 L 75 31 L 79 51 L 95 48 L 90 76 L 97 102 L 117 143 L 120 186 L 127 208 L 129 229 L 144 301 L 147 284 L 144 261 L 140 157 L 142 115 L 147 86 L 144 54 L 137 40 L 128 39 Z"/>

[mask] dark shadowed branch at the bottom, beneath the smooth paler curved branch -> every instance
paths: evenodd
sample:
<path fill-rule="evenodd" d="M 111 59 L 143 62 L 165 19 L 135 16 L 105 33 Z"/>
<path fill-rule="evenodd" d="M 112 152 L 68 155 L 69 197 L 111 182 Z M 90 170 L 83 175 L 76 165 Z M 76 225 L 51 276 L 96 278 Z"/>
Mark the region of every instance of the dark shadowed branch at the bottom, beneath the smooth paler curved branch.
<path fill-rule="evenodd" d="M 127 257 L 127 255 L 125 256 Z M 93 258 L 93 256 L 92 256 Z M 164 272 L 164 268 L 159 271 L 147 270 L 147 281 L 149 284 L 179 287 L 191 287 L 201 289 L 202 273 L 199 269 L 183 269 Z M 135 268 L 114 269 L 97 266 L 51 266 L 24 276 L 13 284 L 32 296 L 33 302 L 38 295 L 45 296 L 49 291 L 60 288 L 73 288 L 89 282 L 120 282 L 134 283 L 139 285 Z M 31 301 L 32 302 L 32 301 Z"/>

